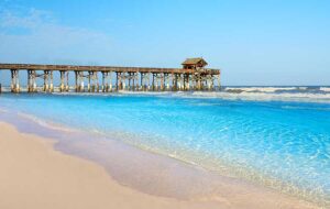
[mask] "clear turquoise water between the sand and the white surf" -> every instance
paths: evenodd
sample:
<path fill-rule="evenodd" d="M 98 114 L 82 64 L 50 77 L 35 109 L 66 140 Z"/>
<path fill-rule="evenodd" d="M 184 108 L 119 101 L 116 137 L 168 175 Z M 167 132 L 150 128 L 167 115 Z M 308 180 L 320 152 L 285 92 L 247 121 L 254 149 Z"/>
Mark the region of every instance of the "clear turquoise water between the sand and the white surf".
<path fill-rule="evenodd" d="M 4 94 L 0 109 L 330 202 L 330 103 Z"/>

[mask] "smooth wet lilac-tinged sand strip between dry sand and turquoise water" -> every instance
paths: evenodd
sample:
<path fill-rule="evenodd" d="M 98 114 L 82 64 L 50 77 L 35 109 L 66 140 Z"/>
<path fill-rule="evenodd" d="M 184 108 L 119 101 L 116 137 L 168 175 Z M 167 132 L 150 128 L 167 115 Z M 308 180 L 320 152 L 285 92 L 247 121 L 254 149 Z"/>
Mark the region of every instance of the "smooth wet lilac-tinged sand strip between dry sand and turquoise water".
<path fill-rule="evenodd" d="M 0 120 L 14 125 L 22 133 L 55 140 L 56 151 L 92 161 L 103 166 L 119 184 L 150 195 L 189 200 L 242 190 L 279 193 L 244 179 L 219 175 L 172 156 L 141 150 L 125 142 L 109 138 L 105 140 L 94 133 L 63 129 L 58 124 L 38 123 L 6 110 L 0 111 Z"/>

